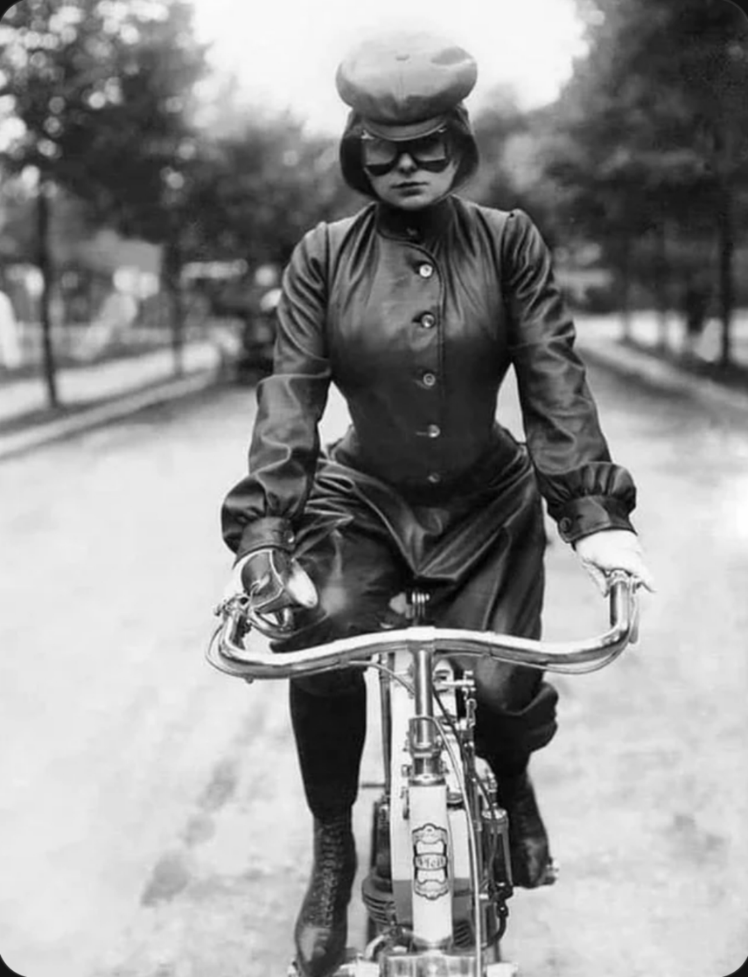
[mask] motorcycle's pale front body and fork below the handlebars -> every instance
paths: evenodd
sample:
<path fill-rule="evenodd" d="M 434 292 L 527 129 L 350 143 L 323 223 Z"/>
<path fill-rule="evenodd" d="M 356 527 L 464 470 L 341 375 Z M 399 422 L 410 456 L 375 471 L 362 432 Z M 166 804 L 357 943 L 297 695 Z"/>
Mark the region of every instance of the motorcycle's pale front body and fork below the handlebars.
<path fill-rule="evenodd" d="M 410 604 L 416 610 L 414 623 L 421 623 L 419 609 L 425 606 L 425 596 L 416 592 Z M 396 922 L 390 934 L 380 934 L 370 944 L 364 959 L 377 959 L 383 977 L 416 977 L 425 960 L 439 974 L 483 974 L 485 966 L 492 964 L 492 977 L 508 977 L 517 972 L 513 964 L 504 963 L 497 969 L 495 959 L 483 958 L 487 955 L 482 942 L 486 939 L 491 945 L 498 922 L 493 899 L 482 884 L 485 867 L 475 755 L 464 755 L 466 743 L 455 742 L 449 748 L 447 738 L 452 731 L 442 724 L 435 707 L 437 686 L 441 695 L 445 690 L 466 690 L 470 703 L 475 691 L 472 673 L 456 680 L 452 664 L 443 656 L 436 658 L 435 649 L 425 642 L 407 652 L 380 656 L 379 680 L 384 799 L 389 808 Z M 470 724 L 470 717 L 466 721 Z M 468 745 L 472 746 L 472 737 Z M 449 753 L 453 775 L 451 790 L 443 763 L 445 752 Z M 467 760 L 467 769 L 463 760 Z M 455 786 L 459 803 L 451 802 Z M 495 818 L 497 825 L 504 826 L 499 837 L 505 845 L 504 864 L 511 873 L 506 814 L 496 809 Z M 511 885 L 511 874 L 509 881 Z M 456 950 L 453 945 L 458 883 L 463 897 L 466 886 L 470 892 L 475 936 L 472 951 Z M 511 888 L 506 895 L 510 894 Z M 383 943 L 395 933 L 401 937 L 399 946 L 395 942 L 382 953 Z"/>

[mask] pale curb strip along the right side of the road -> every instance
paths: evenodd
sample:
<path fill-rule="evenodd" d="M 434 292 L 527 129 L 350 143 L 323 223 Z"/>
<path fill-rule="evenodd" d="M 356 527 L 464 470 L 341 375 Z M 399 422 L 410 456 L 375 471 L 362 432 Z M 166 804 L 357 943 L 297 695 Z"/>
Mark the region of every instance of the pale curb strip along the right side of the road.
<path fill-rule="evenodd" d="M 583 359 L 596 363 L 620 376 L 630 377 L 657 390 L 668 390 L 712 407 L 748 411 L 748 393 L 731 390 L 708 377 L 679 369 L 615 340 L 587 341 L 580 337 L 578 346 Z"/>

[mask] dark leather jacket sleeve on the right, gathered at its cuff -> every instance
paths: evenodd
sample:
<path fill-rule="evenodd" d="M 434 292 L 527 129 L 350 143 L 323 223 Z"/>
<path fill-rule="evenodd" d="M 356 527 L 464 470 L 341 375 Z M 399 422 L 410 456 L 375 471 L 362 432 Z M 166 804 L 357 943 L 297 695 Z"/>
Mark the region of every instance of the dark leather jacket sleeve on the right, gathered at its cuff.
<path fill-rule="evenodd" d="M 632 530 L 634 482 L 611 461 L 550 251 L 522 211 L 507 219 L 502 265 L 527 447 L 561 538 Z"/>

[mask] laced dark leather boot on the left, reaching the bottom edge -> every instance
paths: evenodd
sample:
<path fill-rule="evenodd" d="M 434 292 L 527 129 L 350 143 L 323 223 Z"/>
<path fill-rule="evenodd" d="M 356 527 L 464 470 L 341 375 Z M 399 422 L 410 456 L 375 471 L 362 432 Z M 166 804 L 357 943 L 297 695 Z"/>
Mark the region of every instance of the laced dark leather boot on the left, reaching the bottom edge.
<path fill-rule="evenodd" d="M 348 904 L 355 875 L 351 812 L 314 819 L 312 878 L 296 920 L 296 966 L 302 977 L 327 977 L 346 955 Z"/>

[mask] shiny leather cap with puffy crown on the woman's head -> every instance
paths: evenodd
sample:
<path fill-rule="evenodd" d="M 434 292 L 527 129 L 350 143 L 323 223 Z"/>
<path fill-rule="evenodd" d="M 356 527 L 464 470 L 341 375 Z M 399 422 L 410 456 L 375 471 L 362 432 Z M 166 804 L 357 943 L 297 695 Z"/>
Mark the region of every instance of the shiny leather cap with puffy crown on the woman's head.
<path fill-rule="evenodd" d="M 340 64 L 338 93 L 374 136 L 435 132 L 472 91 L 475 60 L 435 34 L 397 32 L 364 41 Z"/>

